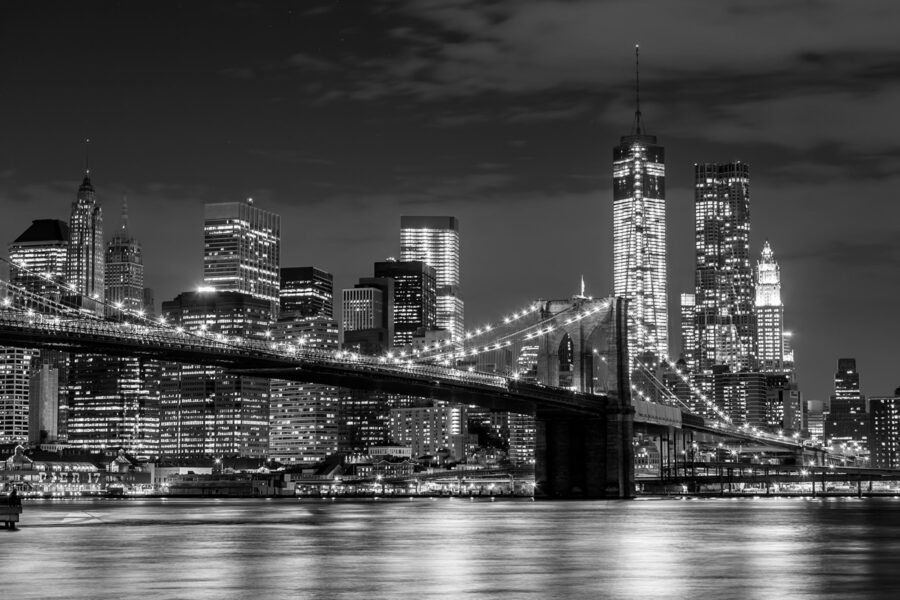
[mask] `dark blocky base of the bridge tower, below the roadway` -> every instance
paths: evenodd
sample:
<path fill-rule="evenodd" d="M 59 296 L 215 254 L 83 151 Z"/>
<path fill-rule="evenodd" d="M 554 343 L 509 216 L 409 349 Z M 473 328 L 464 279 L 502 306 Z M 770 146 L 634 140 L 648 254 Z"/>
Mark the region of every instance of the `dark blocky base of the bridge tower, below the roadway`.
<path fill-rule="evenodd" d="M 544 498 L 634 497 L 633 419 L 538 418 L 535 495 Z"/>

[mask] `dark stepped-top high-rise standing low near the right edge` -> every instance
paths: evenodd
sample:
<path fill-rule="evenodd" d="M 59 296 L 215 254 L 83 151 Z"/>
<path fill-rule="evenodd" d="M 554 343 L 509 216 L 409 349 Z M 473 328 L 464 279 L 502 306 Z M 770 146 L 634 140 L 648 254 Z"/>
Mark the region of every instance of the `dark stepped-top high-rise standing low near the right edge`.
<path fill-rule="evenodd" d="M 859 388 L 855 358 L 839 358 L 834 395 L 825 419 L 825 438 L 843 450 L 868 451 L 866 401 Z"/>

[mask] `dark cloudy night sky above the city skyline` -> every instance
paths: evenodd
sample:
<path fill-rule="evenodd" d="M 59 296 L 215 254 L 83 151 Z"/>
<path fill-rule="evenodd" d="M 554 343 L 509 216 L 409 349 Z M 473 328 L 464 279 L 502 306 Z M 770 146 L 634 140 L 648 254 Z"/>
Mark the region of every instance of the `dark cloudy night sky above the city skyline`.
<path fill-rule="evenodd" d="M 282 266 L 335 289 L 460 221 L 469 326 L 612 294 L 612 148 L 666 148 L 671 351 L 693 290 L 693 164 L 749 163 L 751 250 L 781 266 L 798 381 L 839 357 L 900 386 L 900 3 L 826 0 L 0 5 L 0 242 L 67 220 L 91 139 L 107 235 L 157 306 L 202 280 L 203 205 L 282 218 Z M 338 292 L 339 293 L 339 292 Z"/>

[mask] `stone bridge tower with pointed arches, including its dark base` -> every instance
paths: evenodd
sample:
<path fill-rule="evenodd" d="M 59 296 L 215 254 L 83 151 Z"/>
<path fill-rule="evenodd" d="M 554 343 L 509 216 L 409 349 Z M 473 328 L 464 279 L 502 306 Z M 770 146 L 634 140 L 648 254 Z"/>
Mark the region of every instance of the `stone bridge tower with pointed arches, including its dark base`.
<path fill-rule="evenodd" d="M 542 319 L 557 319 L 538 351 L 538 380 L 596 394 L 606 406 L 600 417 L 535 415 L 537 493 L 551 498 L 631 498 L 634 496 L 634 409 L 628 367 L 627 301 L 575 296 L 542 306 Z"/>

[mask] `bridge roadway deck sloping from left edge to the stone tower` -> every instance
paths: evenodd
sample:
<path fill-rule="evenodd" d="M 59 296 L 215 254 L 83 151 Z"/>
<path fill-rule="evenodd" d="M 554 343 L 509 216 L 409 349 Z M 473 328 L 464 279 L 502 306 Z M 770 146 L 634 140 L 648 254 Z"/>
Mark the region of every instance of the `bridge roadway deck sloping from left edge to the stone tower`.
<path fill-rule="evenodd" d="M 221 334 L 188 333 L 165 325 L 47 317 L 0 309 L 0 340 L 6 346 L 210 365 L 238 375 L 422 396 L 538 417 L 623 412 L 608 396 L 511 377 L 437 365 L 391 363 L 348 352 L 305 350 L 291 344 Z"/>

